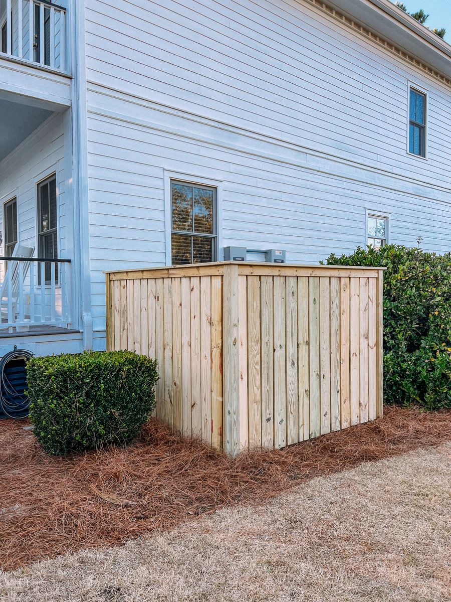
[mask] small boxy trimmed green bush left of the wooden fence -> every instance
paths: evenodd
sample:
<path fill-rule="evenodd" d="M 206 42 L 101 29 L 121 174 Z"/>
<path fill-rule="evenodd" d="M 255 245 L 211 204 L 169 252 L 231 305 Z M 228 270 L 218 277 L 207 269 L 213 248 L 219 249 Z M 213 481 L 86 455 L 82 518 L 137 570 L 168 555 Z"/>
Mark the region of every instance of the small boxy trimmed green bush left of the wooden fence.
<path fill-rule="evenodd" d="M 155 360 L 128 351 L 32 358 L 30 418 L 45 452 L 131 442 L 155 408 Z"/>

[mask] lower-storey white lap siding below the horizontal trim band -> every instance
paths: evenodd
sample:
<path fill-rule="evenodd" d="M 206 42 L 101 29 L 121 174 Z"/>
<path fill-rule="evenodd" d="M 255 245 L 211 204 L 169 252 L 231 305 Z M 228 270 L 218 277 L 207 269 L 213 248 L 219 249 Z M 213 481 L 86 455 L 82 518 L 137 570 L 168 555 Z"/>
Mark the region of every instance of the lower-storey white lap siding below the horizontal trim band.
<path fill-rule="evenodd" d="M 101 98 L 90 93 L 93 102 Z M 192 140 L 153 126 L 130 123 L 133 107 L 125 101 L 123 119 L 88 117 L 90 234 L 94 330 L 105 327 L 103 270 L 165 263 L 164 172 L 215 179 L 222 187 L 223 246 L 287 250 L 287 261 L 317 262 L 331 252 L 351 252 L 365 244 L 366 210 L 390 215 L 391 241 L 451 250 L 451 206 L 445 191 L 414 187 L 390 176 L 381 185 L 361 169 L 352 178 L 325 160 L 322 169 L 259 156 L 244 138 L 243 150 Z M 150 123 L 158 115 L 143 108 Z M 183 120 L 174 129 L 183 130 Z M 177 128 L 177 124 L 180 126 Z M 220 134 L 218 132 L 218 139 Z M 433 194 L 434 196 L 431 196 Z"/>

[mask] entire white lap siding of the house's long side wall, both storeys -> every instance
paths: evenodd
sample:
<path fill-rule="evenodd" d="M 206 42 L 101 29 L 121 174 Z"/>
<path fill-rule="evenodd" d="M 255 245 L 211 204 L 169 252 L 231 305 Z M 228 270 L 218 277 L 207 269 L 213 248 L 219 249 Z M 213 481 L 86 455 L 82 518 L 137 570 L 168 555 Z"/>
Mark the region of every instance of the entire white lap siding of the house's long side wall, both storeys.
<path fill-rule="evenodd" d="M 316 262 L 391 241 L 451 249 L 451 90 L 304 0 L 87 0 L 91 282 L 168 261 L 165 170 L 221 183 L 221 246 Z M 425 88 L 428 161 L 407 154 Z M 221 253 L 221 250 L 220 250 Z"/>

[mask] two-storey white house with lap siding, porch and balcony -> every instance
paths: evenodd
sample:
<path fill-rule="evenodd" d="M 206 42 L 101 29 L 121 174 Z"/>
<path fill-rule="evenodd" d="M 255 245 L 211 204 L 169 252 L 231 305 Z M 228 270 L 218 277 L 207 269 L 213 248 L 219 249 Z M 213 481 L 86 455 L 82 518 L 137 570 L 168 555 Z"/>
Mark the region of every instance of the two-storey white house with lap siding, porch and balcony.
<path fill-rule="evenodd" d="M 0 260 L 0 355 L 104 349 L 103 270 L 451 250 L 451 46 L 389 0 L 0 0 L 0 29 L 0 255 L 35 260 Z"/>

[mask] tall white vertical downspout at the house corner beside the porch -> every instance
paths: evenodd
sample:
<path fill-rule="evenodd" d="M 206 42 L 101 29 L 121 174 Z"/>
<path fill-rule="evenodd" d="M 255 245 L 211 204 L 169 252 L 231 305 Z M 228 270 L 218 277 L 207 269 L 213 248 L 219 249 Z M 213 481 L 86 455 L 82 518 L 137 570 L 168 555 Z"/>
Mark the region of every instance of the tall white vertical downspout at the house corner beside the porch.
<path fill-rule="evenodd" d="M 72 157 L 76 282 L 80 283 L 83 349 L 93 349 L 88 203 L 88 124 L 85 51 L 85 0 L 72 2 Z M 78 277 L 78 278 L 77 278 Z"/>

